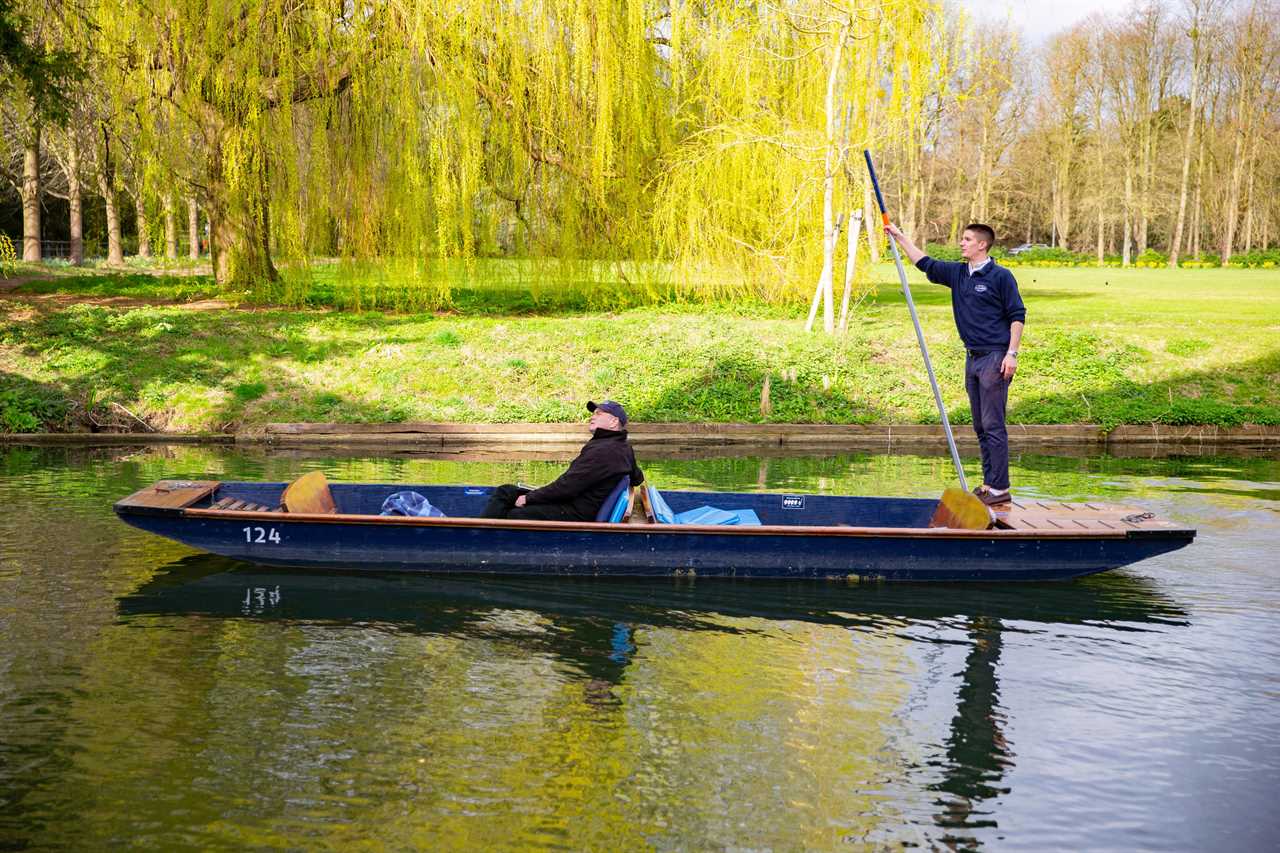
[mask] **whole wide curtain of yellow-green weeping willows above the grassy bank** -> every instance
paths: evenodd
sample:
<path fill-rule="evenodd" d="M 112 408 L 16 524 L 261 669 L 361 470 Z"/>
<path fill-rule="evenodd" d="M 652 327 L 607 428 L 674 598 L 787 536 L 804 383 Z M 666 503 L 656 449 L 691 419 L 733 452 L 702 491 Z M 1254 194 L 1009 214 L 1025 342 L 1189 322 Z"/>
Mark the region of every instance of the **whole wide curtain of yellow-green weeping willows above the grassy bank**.
<path fill-rule="evenodd" d="M 850 152 L 918 140 L 943 77 L 923 0 L 100 4 L 152 202 L 198 195 L 219 282 L 285 298 L 311 255 L 419 305 L 485 256 L 792 298 L 863 204 Z"/>

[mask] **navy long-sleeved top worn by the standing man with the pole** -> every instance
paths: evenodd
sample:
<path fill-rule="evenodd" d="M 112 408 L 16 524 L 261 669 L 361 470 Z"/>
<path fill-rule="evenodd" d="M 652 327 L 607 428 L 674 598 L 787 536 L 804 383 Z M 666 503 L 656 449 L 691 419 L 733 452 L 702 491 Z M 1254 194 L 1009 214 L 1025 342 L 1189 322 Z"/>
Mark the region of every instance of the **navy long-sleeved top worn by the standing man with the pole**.
<path fill-rule="evenodd" d="M 934 284 L 951 288 L 951 313 L 960 339 L 969 350 L 1007 350 L 1009 325 L 1027 321 L 1027 307 L 1018 293 L 1018 282 L 995 260 L 973 275 L 965 261 L 940 261 L 928 255 L 915 268 Z"/>

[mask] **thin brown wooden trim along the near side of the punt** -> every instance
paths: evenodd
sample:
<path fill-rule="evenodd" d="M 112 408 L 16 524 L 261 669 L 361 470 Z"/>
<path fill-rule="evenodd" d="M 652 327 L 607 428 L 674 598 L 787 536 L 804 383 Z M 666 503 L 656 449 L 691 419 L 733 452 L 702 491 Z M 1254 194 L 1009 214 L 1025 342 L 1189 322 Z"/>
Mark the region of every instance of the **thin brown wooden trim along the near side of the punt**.
<path fill-rule="evenodd" d="M 507 530 L 559 530 L 590 533 L 662 533 L 673 535 L 714 534 L 714 535 L 792 535 L 792 537 L 893 537 L 920 539 L 1125 539 L 1138 535 L 1187 535 L 1190 528 L 1142 526 L 1133 524 L 1128 529 L 1112 530 L 1073 530 L 1073 529 L 991 529 L 957 530 L 952 528 L 854 528 L 854 526 L 801 526 L 801 525 L 704 525 L 704 524 L 611 524 L 607 521 L 526 521 L 516 519 L 471 519 L 471 517 L 413 517 L 399 515 L 353 515 L 353 514 L 307 514 L 307 512 L 252 512 L 234 510 L 180 510 L 183 516 L 198 519 L 243 519 L 246 521 L 289 521 L 301 524 L 344 524 L 344 525 L 398 525 L 398 526 L 436 526 L 436 528 L 498 528 Z M 1167 523 L 1166 523 L 1167 524 Z"/>

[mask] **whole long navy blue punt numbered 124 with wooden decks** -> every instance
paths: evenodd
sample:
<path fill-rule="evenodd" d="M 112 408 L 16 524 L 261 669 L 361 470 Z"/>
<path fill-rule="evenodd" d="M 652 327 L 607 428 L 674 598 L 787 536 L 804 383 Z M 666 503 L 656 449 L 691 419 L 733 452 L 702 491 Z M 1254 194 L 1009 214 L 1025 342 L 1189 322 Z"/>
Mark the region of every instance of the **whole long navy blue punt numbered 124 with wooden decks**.
<path fill-rule="evenodd" d="M 753 523 L 663 523 L 645 489 L 635 500 L 618 485 L 602 520 L 581 523 L 475 517 L 492 487 L 330 485 L 319 473 L 293 484 L 160 480 L 118 501 L 115 512 L 142 530 L 266 566 L 508 575 L 1057 580 L 1196 537 L 1140 507 L 1093 502 L 1016 500 L 993 507 L 986 529 L 964 529 L 947 526 L 943 502 L 928 498 L 691 491 L 662 492 L 668 520 L 714 507 L 718 517 Z M 444 516 L 379 514 L 406 489 Z"/>

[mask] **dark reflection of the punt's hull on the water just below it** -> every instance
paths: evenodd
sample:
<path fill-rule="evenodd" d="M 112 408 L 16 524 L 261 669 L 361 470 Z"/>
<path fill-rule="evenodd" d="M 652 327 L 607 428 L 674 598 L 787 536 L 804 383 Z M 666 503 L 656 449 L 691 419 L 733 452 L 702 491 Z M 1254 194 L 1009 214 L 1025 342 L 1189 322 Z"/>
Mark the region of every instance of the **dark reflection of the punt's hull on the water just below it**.
<path fill-rule="evenodd" d="M 558 625 L 614 624 L 731 630 L 718 616 L 803 620 L 849 628 L 904 621 L 982 620 L 1102 624 L 1116 630 L 1180 625 L 1185 613 L 1147 580 L 1100 575 L 1069 584 L 901 587 L 833 581 L 664 583 L 627 578 L 407 575 L 270 570 L 212 555 L 172 564 L 119 599 L 122 615 L 193 613 L 302 622 L 375 624 L 421 633 L 468 633 L 495 610 L 530 611 Z M 602 634 L 602 635 L 603 635 Z"/>

